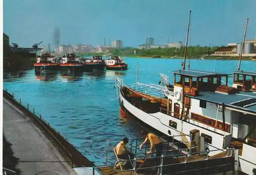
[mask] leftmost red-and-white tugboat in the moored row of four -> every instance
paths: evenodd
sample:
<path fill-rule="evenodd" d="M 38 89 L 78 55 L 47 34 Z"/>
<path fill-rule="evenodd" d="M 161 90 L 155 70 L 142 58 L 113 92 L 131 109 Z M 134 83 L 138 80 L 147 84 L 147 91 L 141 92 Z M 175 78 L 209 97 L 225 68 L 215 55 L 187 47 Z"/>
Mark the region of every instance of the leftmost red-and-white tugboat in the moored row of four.
<path fill-rule="evenodd" d="M 34 67 L 35 71 L 57 70 L 60 68 L 57 58 L 53 57 L 50 53 L 38 56 Z"/>

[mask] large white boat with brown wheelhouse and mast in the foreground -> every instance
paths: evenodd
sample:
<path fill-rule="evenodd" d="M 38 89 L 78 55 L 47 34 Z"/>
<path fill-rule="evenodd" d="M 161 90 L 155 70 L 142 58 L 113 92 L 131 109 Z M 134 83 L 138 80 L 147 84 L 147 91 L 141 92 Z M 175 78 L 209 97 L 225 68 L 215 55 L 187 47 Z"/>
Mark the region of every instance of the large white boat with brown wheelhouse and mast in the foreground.
<path fill-rule="evenodd" d="M 187 38 L 188 31 L 189 23 Z M 256 155 L 256 94 L 227 86 L 227 74 L 185 70 L 186 48 L 183 69 L 172 71 L 173 85 L 163 74 L 162 85 L 138 81 L 125 85 L 117 77 L 122 110 L 161 135 L 180 135 L 175 139 L 188 148 L 196 145 L 194 135 L 200 135 L 211 157 L 218 157 L 223 148 L 235 147 L 239 155 L 236 166 L 252 174 L 256 165 L 256 156 L 251 156 Z"/>

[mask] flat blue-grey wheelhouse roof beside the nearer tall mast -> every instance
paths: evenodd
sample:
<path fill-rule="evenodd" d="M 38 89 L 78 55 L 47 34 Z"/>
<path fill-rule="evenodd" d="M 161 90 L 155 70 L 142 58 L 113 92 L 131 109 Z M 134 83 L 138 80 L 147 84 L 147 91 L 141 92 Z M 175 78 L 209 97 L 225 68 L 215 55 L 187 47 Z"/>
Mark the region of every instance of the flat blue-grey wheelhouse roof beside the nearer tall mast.
<path fill-rule="evenodd" d="M 197 77 L 197 78 L 228 76 L 228 74 L 221 74 L 221 73 L 208 72 L 208 71 L 197 71 L 197 70 L 178 70 L 178 71 L 172 71 L 172 73 L 190 76 L 190 77 Z"/>

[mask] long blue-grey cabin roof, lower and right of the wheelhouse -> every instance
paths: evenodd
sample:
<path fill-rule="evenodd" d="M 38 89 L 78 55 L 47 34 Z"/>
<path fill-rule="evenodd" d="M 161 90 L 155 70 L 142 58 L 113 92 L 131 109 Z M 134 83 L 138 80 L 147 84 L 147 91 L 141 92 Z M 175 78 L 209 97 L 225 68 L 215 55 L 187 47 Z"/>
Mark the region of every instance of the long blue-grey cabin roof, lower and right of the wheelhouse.
<path fill-rule="evenodd" d="M 244 112 L 250 112 L 256 115 L 256 93 L 239 92 L 237 94 L 224 94 L 219 92 L 200 92 L 199 96 L 185 95 L 186 97 L 204 100 L 211 103 L 216 103 L 237 108 Z"/>

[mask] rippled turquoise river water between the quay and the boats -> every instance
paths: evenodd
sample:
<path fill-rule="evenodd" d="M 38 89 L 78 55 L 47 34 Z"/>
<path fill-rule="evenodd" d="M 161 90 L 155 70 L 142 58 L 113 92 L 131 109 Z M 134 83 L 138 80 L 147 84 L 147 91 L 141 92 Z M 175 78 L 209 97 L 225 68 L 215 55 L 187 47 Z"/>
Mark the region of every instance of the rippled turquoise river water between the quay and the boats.
<path fill-rule="evenodd" d="M 126 71 L 94 71 L 84 73 L 45 72 L 34 70 L 4 72 L 4 88 L 31 104 L 56 130 L 65 136 L 83 155 L 97 165 L 105 162 L 106 142 L 110 139 L 109 163 L 115 162 L 113 147 L 123 137 L 139 137 L 141 130 L 133 120 L 120 115 L 115 76 L 125 84 L 136 82 L 136 62 L 139 62 L 139 82 L 158 83 L 159 74 L 169 76 L 181 69 L 183 59 L 124 58 Z M 190 60 L 190 69 L 231 73 L 237 60 Z M 242 61 L 242 70 L 256 70 L 256 61 Z M 231 76 L 231 75 L 230 75 Z M 229 84 L 232 78 L 229 78 Z M 95 143 L 92 149 L 90 142 Z"/>

